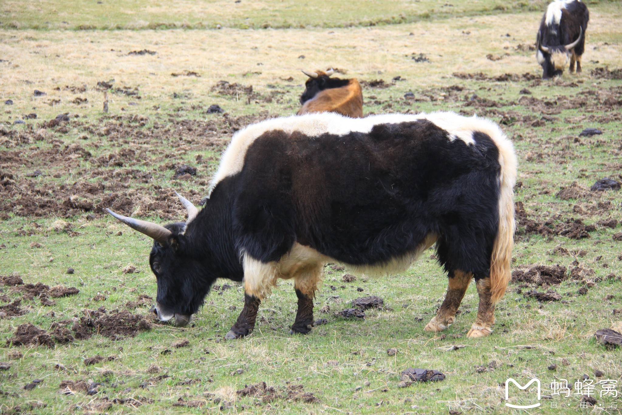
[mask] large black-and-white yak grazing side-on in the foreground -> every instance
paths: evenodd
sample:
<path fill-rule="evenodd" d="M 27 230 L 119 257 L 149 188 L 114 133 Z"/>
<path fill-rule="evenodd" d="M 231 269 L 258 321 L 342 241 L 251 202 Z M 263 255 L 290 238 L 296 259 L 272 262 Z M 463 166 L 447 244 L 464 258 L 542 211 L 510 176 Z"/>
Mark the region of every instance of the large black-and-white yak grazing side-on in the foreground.
<path fill-rule="evenodd" d="M 436 243 L 449 283 L 425 330 L 453 323 L 475 279 L 480 304 L 468 337 L 482 337 L 510 279 L 515 180 L 513 145 L 487 119 L 306 114 L 238 131 L 205 207 L 180 197 L 185 222 L 160 226 L 108 212 L 154 239 L 160 320 L 187 324 L 225 277 L 244 282 L 244 309 L 226 334 L 243 337 L 283 278 L 294 279 L 298 297 L 290 333 L 307 333 L 325 264 L 394 274 Z"/>

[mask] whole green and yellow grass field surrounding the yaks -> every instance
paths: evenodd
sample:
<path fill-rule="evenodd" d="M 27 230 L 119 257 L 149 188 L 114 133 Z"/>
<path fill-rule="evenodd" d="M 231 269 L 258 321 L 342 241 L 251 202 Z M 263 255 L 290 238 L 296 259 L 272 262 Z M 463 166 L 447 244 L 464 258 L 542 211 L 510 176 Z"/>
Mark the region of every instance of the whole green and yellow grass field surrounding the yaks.
<path fill-rule="evenodd" d="M 504 406 L 509 377 L 524 384 L 537 376 L 544 396 L 554 379 L 567 379 L 572 393 L 583 375 L 620 381 L 620 348 L 600 345 L 594 332 L 622 329 L 622 193 L 590 186 L 604 177 L 622 181 L 622 4 L 588 2 L 583 73 L 552 81 L 539 79 L 529 49 L 544 7 L 494 0 L 2 2 L 0 274 L 80 292 L 40 297 L 2 286 L 0 361 L 8 364 L 0 365 L 0 413 L 513 414 L 519 411 Z M 315 301 L 315 318 L 327 322 L 304 337 L 287 334 L 296 310 L 290 282 L 262 303 L 248 338 L 223 339 L 243 306 L 243 288 L 225 280 L 192 327 L 152 320 L 152 301 L 141 298 L 156 294 L 152 242 L 102 209 L 182 220 L 174 190 L 198 203 L 234 131 L 295 113 L 300 70 L 328 67 L 368 82 L 366 114 L 476 113 L 513 139 L 522 203 L 516 281 L 490 337 L 466 338 L 478 304 L 473 286 L 450 329 L 423 331 L 447 286 L 433 250 L 395 276 L 343 282 L 345 271 L 327 268 Z M 373 80 L 384 83 L 369 86 Z M 210 105 L 225 112 L 208 113 Z M 579 137 L 585 128 L 603 134 Z M 184 165 L 196 175 L 176 174 Z M 538 265 L 561 281 L 521 281 L 521 271 Z M 534 289 L 552 289 L 561 301 L 525 296 Z M 385 307 L 366 310 L 364 320 L 335 316 L 371 295 Z M 74 329 L 89 330 L 100 307 L 108 315 L 128 310 L 152 328 L 116 340 L 79 335 Z M 73 341 L 6 344 L 25 323 Z M 389 356 L 389 348 L 397 353 Z M 103 360 L 85 365 L 96 356 Z M 399 388 L 400 372 L 411 367 L 447 377 Z M 274 391 L 236 393 L 261 381 Z M 620 399 L 598 391 L 587 409 L 572 394 L 542 399 L 529 413 L 619 413 L 611 404 L 622 408 Z"/>

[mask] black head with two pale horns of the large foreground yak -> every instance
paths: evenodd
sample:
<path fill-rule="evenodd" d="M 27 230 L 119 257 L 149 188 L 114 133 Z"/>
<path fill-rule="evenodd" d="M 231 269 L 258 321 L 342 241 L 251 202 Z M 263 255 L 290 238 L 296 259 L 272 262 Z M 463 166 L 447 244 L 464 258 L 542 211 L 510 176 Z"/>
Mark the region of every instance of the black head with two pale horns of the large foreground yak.
<path fill-rule="evenodd" d="M 154 245 L 149 256 L 149 265 L 156 276 L 156 313 L 160 321 L 174 320 L 175 325 L 184 326 L 203 304 L 211 282 L 185 236 L 185 228 L 198 213 L 189 200 L 177 194 L 188 211 L 188 220 L 160 226 L 156 223 L 118 215 L 110 209 L 108 213 L 129 227 L 153 238 Z M 193 244 L 194 245 L 194 244 Z"/>

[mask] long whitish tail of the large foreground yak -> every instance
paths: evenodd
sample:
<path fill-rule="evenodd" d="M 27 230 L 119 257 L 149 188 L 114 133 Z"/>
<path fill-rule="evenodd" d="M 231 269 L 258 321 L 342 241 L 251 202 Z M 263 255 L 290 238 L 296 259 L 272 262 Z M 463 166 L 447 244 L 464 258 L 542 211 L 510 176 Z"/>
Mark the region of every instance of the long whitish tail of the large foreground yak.
<path fill-rule="evenodd" d="M 510 264 L 514 247 L 514 183 L 516 182 L 516 154 L 512 143 L 499 129 L 495 139 L 499 149 L 499 228 L 494 240 L 490 261 L 491 300 L 496 304 L 505 294 L 511 279 Z"/>

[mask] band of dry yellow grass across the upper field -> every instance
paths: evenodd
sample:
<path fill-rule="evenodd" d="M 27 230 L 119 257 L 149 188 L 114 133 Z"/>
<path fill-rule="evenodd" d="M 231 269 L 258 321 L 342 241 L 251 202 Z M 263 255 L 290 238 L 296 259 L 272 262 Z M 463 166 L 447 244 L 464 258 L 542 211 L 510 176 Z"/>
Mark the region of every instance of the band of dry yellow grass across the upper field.
<path fill-rule="evenodd" d="M 260 89 L 284 83 L 290 76 L 301 84 L 306 78 L 300 73 L 304 68 L 344 68 L 348 77 L 363 79 L 400 75 L 407 79 L 405 85 L 415 88 L 442 84 L 453 72 L 539 73 L 533 52 L 514 49 L 519 44 L 533 44 L 539 16 L 534 12 L 330 30 L 1 30 L 0 56 L 9 62 L 0 63 L 4 67 L 0 96 L 16 101 L 14 108 L 22 112 L 37 103 L 40 106 L 41 101 L 62 99 L 60 107 L 38 108 L 48 109 L 51 116 L 65 108 L 65 98 L 73 96 L 53 91 L 56 86 L 86 85 L 88 90 L 81 96 L 89 103 L 81 108 L 94 105 L 100 111 L 103 95 L 93 86 L 109 79 L 116 80 L 115 86 L 139 86 L 152 105 L 152 100 L 165 100 L 174 90 L 206 95 L 221 79 L 251 83 Z M 592 12 L 584 74 L 595 66 L 590 61 L 622 65 L 622 44 L 611 42 L 612 38 L 622 39 L 621 20 L 622 9 L 615 7 Z M 141 49 L 157 55 L 128 56 L 128 52 Z M 431 63 L 415 63 L 407 57 L 412 53 L 425 54 Z M 498 61 L 486 58 L 487 54 L 506 53 L 509 55 Z M 300 59 L 300 55 L 306 58 Z M 182 70 L 198 72 L 201 77 L 171 76 Z M 33 97 L 35 88 L 48 95 Z M 128 101 L 116 96 L 109 99 L 116 108 Z"/>

